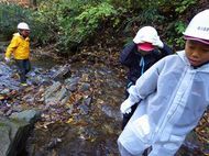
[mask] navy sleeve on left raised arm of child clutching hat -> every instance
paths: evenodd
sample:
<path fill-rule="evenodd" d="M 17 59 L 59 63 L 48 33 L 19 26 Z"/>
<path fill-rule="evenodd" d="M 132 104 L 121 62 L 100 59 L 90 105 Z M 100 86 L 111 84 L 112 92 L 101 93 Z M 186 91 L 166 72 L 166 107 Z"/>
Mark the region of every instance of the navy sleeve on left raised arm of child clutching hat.
<path fill-rule="evenodd" d="M 132 42 L 127 45 L 120 54 L 120 63 L 125 66 L 131 66 L 132 58 L 134 56 L 134 46 L 135 44 Z"/>

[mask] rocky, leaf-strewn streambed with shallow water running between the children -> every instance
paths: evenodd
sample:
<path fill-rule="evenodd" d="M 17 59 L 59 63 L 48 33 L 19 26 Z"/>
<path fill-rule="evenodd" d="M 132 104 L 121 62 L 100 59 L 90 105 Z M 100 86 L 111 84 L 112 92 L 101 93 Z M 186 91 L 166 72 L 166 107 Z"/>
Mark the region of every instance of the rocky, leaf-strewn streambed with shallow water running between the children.
<path fill-rule="evenodd" d="M 28 140 L 23 140 L 24 151 L 19 155 L 119 155 L 117 138 L 121 133 L 119 108 L 124 99 L 124 69 L 113 57 L 103 54 L 85 53 L 62 62 L 50 56 L 33 57 L 28 87 L 18 82 L 13 64 L 0 63 L 1 118 L 10 120 L 25 111 L 40 115 L 32 123 Z M 197 134 L 191 133 L 177 155 L 204 156 L 207 149 Z"/>

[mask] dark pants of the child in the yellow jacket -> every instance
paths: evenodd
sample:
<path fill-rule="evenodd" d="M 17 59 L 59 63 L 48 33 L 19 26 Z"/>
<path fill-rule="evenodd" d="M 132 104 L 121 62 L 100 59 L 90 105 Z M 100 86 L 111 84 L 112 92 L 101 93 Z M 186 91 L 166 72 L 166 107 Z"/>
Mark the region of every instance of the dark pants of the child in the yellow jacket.
<path fill-rule="evenodd" d="M 20 81 L 26 82 L 26 74 L 31 70 L 31 63 L 29 59 L 15 59 L 19 68 Z"/>

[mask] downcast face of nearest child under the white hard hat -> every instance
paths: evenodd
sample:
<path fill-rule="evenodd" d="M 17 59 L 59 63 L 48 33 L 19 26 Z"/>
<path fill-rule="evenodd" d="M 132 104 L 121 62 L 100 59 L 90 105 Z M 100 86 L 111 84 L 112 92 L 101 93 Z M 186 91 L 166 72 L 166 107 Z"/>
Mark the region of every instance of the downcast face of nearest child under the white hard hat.
<path fill-rule="evenodd" d="M 187 40 L 185 52 L 191 66 L 197 67 L 209 62 L 209 45 L 207 44 Z"/>

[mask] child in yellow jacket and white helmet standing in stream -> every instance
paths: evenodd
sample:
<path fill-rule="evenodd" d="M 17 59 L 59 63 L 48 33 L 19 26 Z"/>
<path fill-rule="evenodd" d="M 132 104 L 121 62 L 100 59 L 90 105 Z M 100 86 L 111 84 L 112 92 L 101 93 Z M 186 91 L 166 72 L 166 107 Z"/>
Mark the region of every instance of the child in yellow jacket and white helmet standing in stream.
<path fill-rule="evenodd" d="M 12 41 L 6 52 L 6 62 L 10 62 L 11 54 L 13 55 L 16 66 L 19 67 L 19 75 L 21 85 L 26 86 L 26 74 L 31 69 L 30 64 L 30 27 L 26 23 L 18 24 L 18 33 L 13 34 Z"/>

